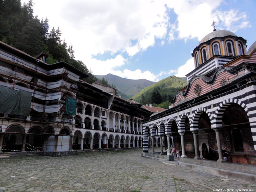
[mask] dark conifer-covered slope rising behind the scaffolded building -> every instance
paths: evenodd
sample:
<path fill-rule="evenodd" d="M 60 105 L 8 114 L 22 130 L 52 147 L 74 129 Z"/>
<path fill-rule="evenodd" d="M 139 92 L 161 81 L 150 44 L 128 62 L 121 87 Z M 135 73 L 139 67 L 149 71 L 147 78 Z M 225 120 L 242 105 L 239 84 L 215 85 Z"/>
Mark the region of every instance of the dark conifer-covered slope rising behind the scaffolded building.
<path fill-rule="evenodd" d="M 33 16 L 33 2 L 21 5 L 20 0 L 0 0 L 0 41 L 31 56 L 49 54 L 46 63 L 65 61 L 89 75 L 84 79 L 93 83 L 97 78 L 82 61 L 75 60 L 72 45 L 61 39 L 59 27 L 49 33 L 48 19 Z"/>

